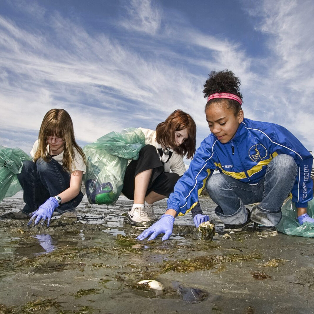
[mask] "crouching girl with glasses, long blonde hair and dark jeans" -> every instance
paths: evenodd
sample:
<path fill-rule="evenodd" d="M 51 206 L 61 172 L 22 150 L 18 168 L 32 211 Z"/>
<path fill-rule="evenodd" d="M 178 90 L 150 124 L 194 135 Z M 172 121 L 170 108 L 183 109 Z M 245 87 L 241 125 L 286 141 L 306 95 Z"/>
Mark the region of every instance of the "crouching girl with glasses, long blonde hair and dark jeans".
<path fill-rule="evenodd" d="M 29 225 L 47 220 L 56 210 L 63 218 L 77 219 L 75 208 L 85 193 L 85 155 L 74 138 L 73 123 L 64 109 L 51 109 L 41 123 L 39 136 L 30 152 L 33 161 L 24 161 L 18 175 L 24 191 L 22 211 L 7 218 L 31 216 Z"/>

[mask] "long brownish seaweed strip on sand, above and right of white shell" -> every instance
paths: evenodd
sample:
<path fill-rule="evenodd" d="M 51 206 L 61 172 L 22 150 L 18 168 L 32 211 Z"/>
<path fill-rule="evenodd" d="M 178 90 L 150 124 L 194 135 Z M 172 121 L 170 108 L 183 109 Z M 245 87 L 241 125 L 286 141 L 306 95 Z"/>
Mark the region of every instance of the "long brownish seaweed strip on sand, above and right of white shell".
<path fill-rule="evenodd" d="M 211 269 L 216 264 L 226 262 L 249 262 L 255 259 L 261 259 L 259 254 L 231 254 L 231 255 L 213 255 L 213 256 L 200 256 L 186 260 L 165 261 L 164 268 L 161 273 L 168 271 L 175 272 L 194 272 L 196 270 Z"/>

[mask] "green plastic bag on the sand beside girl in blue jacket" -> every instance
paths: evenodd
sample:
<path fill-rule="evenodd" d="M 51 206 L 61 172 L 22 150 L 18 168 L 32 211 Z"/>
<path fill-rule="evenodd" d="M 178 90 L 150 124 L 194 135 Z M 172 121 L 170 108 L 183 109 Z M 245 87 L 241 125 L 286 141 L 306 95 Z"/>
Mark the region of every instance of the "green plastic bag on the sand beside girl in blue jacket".
<path fill-rule="evenodd" d="M 300 225 L 297 217 L 295 204 L 291 202 L 291 199 L 281 208 L 282 218 L 279 224 L 276 226 L 277 230 L 285 233 L 288 236 L 303 236 L 306 238 L 314 237 L 314 224 L 305 222 Z M 314 200 L 308 202 L 307 213 L 310 217 L 314 218 Z"/>

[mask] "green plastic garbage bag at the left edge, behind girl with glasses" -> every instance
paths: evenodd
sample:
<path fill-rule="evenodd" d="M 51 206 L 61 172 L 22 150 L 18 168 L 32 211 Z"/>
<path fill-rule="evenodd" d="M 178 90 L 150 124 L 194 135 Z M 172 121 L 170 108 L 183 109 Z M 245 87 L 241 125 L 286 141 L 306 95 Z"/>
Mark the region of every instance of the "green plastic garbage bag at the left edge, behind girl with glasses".
<path fill-rule="evenodd" d="M 30 156 L 22 149 L 0 146 L 0 202 L 22 190 L 17 175 L 24 160 L 30 160 Z"/>

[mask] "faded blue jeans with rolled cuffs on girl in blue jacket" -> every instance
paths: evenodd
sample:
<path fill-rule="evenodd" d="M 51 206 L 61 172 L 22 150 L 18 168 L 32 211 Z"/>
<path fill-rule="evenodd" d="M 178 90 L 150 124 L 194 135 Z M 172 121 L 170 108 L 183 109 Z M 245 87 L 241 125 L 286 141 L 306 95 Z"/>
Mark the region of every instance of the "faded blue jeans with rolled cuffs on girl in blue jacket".
<path fill-rule="evenodd" d="M 208 178 L 206 190 L 218 205 L 215 213 L 225 224 L 245 223 L 247 210 L 244 205 L 259 203 L 252 209 L 252 221 L 275 226 L 281 219 L 281 206 L 292 190 L 296 175 L 294 159 L 281 154 L 268 164 L 265 176 L 256 185 L 219 173 Z"/>

